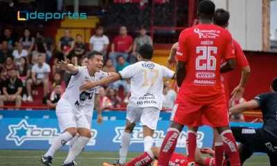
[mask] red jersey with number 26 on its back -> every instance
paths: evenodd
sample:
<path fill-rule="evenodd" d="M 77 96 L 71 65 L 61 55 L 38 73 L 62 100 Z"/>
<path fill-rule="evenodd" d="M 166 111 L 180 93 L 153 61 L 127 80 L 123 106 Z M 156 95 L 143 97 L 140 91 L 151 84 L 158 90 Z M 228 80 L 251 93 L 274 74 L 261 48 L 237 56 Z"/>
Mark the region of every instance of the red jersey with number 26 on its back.
<path fill-rule="evenodd" d="M 235 58 L 233 39 L 228 30 L 213 24 L 198 24 L 183 30 L 176 57 L 186 62 L 186 77 L 177 98 L 209 104 L 223 94 L 221 60 Z"/>

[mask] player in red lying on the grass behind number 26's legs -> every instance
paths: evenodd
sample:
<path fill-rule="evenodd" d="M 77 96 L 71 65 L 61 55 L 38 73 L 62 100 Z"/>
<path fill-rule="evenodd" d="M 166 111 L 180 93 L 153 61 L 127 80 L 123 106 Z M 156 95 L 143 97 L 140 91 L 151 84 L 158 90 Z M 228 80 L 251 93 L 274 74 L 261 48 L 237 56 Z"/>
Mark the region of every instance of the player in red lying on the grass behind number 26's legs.
<path fill-rule="evenodd" d="M 154 162 L 153 166 L 157 166 L 159 154 L 160 154 L 160 147 L 151 147 L 148 151 L 145 151 L 141 156 L 138 156 L 131 160 L 129 163 L 127 163 L 125 166 L 148 166 L 150 165 L 154 159 L 156 161 Z M 215 159 L 214 158 L 204 158 L 202 157 L 202 154 L 209 154 L 210 156 L 215 156 L 215 151 L 208 147 L 204 147 L 202 149 L 196 149 L 195 150 L 195 163 L 197 165 L 195 166 L 215 166 Z M 188 159 L 186 156 L 182 154 L 173 153 L 170 162 L 168 165 L 188 165 Z M 111 166 L 108 163 L 103 163 L 103 166 Z M 224 160 L 224 163 L 222 166 L 226 166 L 226 161 Z"/>

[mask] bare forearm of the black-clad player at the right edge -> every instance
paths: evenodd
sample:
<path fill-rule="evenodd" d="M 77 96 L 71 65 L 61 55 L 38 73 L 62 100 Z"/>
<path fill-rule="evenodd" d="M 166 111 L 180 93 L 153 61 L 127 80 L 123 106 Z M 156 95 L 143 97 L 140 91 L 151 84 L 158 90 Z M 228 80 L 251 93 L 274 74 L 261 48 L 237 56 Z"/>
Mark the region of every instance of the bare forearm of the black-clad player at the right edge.
<path fill-rule="evenodd" d="M 258 107 L 259 103 L 256 100 L 251 100 L 249 102 L 243 102 L 241 104 L 235 105 L 229 110 L 229 112 L 231 114 L 237 114 L 247 111 L 247 109 L 258 109 Z"/>

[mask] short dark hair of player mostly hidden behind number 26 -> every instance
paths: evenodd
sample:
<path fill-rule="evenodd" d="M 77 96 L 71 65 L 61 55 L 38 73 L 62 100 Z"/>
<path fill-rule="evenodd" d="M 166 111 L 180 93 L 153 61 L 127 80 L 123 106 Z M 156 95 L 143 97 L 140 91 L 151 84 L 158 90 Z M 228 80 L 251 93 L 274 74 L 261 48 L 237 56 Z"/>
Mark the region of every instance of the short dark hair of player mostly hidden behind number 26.
<path fill-rule="evenodd" d="M 228 23 L 230 19 L 230 13 L 223 8 L 215 10 L 215 15 L 213 15 L 213 23 L 217 26 L 224 26 Z"/>

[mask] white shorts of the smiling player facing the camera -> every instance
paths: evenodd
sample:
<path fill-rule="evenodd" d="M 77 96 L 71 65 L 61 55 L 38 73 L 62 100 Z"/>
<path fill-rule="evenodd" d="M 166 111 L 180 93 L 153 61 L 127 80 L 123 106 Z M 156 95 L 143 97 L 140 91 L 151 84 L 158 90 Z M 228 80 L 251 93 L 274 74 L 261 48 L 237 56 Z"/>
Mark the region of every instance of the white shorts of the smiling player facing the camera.
<path fill-rule="evenodd" d="M 72 109 L 70 105 L 64 103 L 58 103 L 56 107 L 56 115 L 57 120 L 59 121 L 60 132 L 64 132 L 66 129 L 71 127 L 74 128 L 86 128 L 91 129 L 91 120 L 86 118 L 83 112 L 78 114 L 74 113 L 78 112 Z"/>

